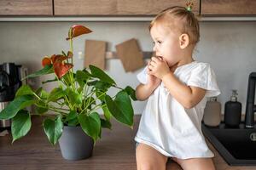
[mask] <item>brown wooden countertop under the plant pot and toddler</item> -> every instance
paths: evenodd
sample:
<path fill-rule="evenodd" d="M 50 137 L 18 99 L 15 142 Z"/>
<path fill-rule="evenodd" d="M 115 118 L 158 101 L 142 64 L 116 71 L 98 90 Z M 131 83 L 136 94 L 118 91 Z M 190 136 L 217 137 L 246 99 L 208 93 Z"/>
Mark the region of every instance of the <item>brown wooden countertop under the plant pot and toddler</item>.
<path fill-rule="evenodd" d="M 113 130 L 103 129 L 102 139 L 96 142 L 93 156 L 82 161 L 67 161 L 61 157 L 59 145 L 51 145 L 44 134 L 42 120 L 32 119 L 32 129 L 26 137 L 11 144 L 11 136 L 0 137 L 0 169 L 91 169 L 91 170 L 135 170 L 135 142 L 134 136 L 140 116 L 135 116 L 134 130 L 113 121 Z M 214 164 L 217 170 L 255 170 L 256 167 L 230 167 L 219 156 L 218 152 L 209 144 L 214 152 Z M 168 163 L 168 169 L 180 169 L 175 163 Z"/>

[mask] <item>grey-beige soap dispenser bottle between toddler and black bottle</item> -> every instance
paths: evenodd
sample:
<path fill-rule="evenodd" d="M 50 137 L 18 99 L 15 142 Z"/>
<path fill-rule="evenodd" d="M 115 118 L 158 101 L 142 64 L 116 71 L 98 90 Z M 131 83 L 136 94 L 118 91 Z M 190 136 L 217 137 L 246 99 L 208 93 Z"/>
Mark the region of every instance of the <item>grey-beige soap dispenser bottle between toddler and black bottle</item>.
<path fill-rule="evenodd" d="M 217 97 L 212 97 L 207 101 L 203 121 L 210 127 L 217 127 L 219 125 L 221 121 L 221 104 L 217 101 Z"/>

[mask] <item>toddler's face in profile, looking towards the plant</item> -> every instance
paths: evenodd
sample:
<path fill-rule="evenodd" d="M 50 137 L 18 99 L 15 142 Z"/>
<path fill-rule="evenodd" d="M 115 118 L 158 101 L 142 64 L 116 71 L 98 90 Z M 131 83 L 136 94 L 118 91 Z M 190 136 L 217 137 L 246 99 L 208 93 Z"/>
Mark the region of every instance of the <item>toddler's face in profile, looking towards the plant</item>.
<path fill-rule="evenodd" d="M 160 24 L 154 24 L 150 34 L 154 41 L 155 55 L 165 59 L 170 67 L 175 65 L 179 61 L 179 34 Z"/>

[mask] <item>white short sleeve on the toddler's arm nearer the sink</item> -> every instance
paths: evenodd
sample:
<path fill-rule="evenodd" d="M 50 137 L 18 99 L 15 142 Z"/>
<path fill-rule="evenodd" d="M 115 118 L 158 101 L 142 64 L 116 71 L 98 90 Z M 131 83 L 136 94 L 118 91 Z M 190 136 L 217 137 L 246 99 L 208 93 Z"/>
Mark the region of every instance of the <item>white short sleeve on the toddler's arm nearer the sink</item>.
<path fill-rule="evenodd" d="M 218 96 L 220 94 L 215 73 L 207 63 L 201 63 L 191 71 L 187 85 L 206 89 L 206 97 Z"/>

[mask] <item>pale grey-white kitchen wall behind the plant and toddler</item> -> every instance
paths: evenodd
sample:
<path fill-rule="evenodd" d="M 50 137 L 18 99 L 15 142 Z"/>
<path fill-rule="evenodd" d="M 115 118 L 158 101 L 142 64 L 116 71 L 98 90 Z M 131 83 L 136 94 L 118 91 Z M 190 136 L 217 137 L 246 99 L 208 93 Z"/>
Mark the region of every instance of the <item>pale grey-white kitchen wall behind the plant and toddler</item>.
<path fill-rule="evenodd" d="M 41 68 L 44 55 L 60 54 L 68 50 L 67 31 L 74 24 L 90 27 L 91 34 L 74 40 L 75 69 L 81 69 L 84 61 L 84 40 L 108 42 L 108 51 L 132 37 L 137 38 L 143 51 L 153 47 L 148 33 L 148 22 L 0 22 L 0 64 L 15 62 L 25 65 L 29 71 Z M 195 50 L 195 59 L 208 62 L 216 72 L 224 102 L 230 99 L 231 89 L 238 89 L 242 112 L 245 112 L 247 77 L 256 71 L 256 22 L 201 22 L 201 42 Z M 119 59 L 107 60 L 107 71 L 120 87 L 137 86 L 138 71 L 125 73 Z M 39 81 L 37 80 L 37 83 Z M 135 113 L 141 113 L 145 102 L 134 102 Z M 224 110 L 223 110 L 224 111 Z"/>

